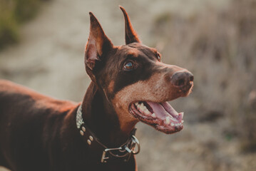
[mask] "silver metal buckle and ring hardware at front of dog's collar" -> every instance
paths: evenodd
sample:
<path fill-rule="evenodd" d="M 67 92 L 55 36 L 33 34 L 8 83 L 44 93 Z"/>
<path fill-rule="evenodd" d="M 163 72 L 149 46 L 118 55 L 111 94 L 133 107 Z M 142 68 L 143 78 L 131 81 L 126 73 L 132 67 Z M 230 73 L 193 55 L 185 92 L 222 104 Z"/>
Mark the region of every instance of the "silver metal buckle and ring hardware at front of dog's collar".
<path fill-rule="evenodd" d="M 135 151 L 135 147 L 138 147 L 137 151 Z M 121 153 L 125 153 L 124 155 L 115 155 L 113 153 L 113 151 L 118 150 L 118 152 Z M 109 155 L 112 155 L 113 157 L 126 157 L 126 159 L 124 160 L 125 162 L 127 162 L 130 159 L 130 155 L 137 155 L 138 152 L 140 152 L 140 142 L 138 141 L 138 139 L 132 135 L 130 138 L 130 141 L 126 144 L 123 145 L 123 147 L 117 147 L 117 148 L 106 148 L 103 153 L 102 153 L 102 157 L 101 157 L 101 162 L 107 162 L 107 160 L 109 159 Z"/>

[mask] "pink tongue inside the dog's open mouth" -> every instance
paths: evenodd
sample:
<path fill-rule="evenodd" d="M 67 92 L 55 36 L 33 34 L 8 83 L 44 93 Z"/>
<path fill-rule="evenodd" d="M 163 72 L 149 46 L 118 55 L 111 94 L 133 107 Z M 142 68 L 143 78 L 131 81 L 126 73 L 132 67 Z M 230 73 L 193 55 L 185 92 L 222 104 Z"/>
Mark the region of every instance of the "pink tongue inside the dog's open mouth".
<path fill-rule="evenodd" d="M 173 118 L 176 118 L 178 113 L 175 111 L 175 109 L 168 103 L 153 103 L 153 102 L 148 102 L 148 105 L 153 109 L 153 112 L 155 115 L 157 115 L 158 118 L 160 119 L 165 119 L 166 116 L 172 115 Z"/>

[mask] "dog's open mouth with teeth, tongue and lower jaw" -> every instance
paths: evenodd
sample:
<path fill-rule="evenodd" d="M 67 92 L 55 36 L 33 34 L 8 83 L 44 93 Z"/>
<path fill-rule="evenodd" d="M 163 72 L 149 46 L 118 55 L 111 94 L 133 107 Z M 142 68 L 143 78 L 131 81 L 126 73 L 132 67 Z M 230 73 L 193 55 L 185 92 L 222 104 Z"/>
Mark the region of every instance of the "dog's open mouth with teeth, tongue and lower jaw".
<path fill-rule="evenodd" d="M 183 113 L 178 113 L 168 103 L 140 101 L 130 105 L 130 113 L 143 123 L 163 133 L 176 133 L 183 129 Z"/>

